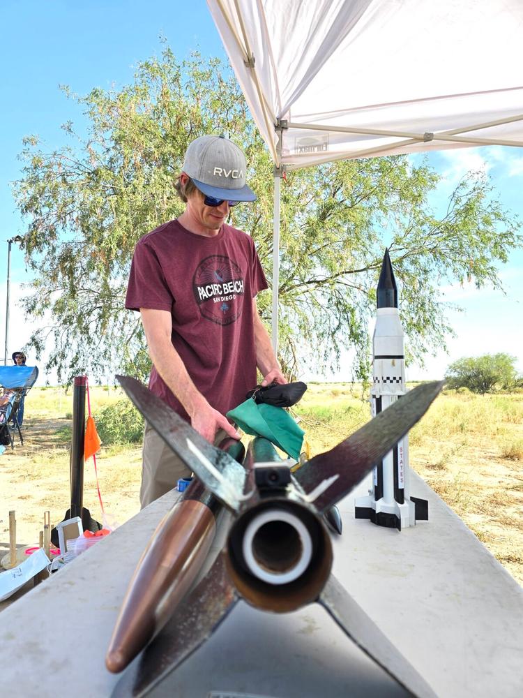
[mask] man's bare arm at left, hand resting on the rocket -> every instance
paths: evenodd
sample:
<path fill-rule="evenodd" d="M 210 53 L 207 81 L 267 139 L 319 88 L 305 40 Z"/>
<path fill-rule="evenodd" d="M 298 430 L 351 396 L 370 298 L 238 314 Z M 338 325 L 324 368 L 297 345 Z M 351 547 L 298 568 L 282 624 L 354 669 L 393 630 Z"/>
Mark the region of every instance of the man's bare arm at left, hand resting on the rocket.
<path fill-rule="evenodd" d="M 169 389 L 182 403 L 190 417 L 192 428 L 213 443 L 218 429 L 229 436 L 240 438 L 239 433 L 227 419 L 206 401 L 197 389 L 185 368 L 179 353 L 172 346 L 172 318 L 165 310 L 140 308 L 149 356 Z"/>

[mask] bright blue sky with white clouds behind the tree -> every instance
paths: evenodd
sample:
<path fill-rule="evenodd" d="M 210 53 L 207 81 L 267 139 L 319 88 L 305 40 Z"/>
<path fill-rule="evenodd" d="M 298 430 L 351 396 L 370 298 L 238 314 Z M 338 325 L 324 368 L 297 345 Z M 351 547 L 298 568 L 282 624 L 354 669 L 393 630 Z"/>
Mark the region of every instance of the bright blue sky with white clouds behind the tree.
<path fill-rule="evenodd" d="M 23 232 L 9 182 L 17 179 L 24 135 L 37 134 L 47 149 L 65 141 L 60 124 L 71 119 L 82 124 L 82 114 L 59 90 L 68 84 L 78 94 L 93 87 L 108 89 L 132 80 L 135 66 L 161 51 L 160 36 L 178 57 L 198 49 L 204 56 L 225 52 L 204 0 L 70 0 L 47 2 L 3 0 L 0 24 L 6 31 L 0 45 L 3 66 L 3 108 L 0 112 L 0 357 L 3 358 L 7 244 Z M 488 172 L 503 204 L 523 213 L 523 150 L 491 147 L 430 154 L 429 161 L 444 174 L 441 196 L 468 170 Z M 444 299 L 464 307 L 451 313 L 457 338 L 449 340 L 450 355 L 427 357 L 424 370 L 411 367 L 408 376 L 438 378 L 448 363 L 464 355 L 506 351 L 518 357 L 523 371 L 523 253 L 513 255 L 501 269 L 506 295 L 485 288 L 442 288 Z M 9 355 L 29 338 L 30 327 L 17 311 L 21 284 L 29 277 L 22 253 L 13 245 Z M 329 376 L 328 378 L 333 378 Z M 341 372 L 337 378 L 350 378 Z"/>

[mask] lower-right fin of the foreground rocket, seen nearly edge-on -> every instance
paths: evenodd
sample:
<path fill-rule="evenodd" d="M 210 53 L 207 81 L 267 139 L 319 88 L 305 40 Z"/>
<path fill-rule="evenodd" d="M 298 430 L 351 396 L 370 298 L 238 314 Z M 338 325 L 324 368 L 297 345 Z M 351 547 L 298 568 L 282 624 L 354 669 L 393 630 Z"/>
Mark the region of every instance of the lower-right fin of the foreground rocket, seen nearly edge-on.
<path fill-rule="evenodd" d="M 321 592 L 318 603 L 333 617 L 347 637 L 411 695 L 418 698 L 436 698 L 425 679 L 332 574 Z"/>

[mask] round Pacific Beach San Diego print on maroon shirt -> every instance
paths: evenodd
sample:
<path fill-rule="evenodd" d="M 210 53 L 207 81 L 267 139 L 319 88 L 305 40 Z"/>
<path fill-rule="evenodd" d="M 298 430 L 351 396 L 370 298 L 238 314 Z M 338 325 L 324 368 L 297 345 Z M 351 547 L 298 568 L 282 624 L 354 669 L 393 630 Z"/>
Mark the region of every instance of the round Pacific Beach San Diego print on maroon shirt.
<path fill-rule="evenodd" d="M 202 316 L 218 325 L 238 320 L 244 288 L 240 267 L 225 255 L 206 257 L 192 277 L 192 290 Z"/>

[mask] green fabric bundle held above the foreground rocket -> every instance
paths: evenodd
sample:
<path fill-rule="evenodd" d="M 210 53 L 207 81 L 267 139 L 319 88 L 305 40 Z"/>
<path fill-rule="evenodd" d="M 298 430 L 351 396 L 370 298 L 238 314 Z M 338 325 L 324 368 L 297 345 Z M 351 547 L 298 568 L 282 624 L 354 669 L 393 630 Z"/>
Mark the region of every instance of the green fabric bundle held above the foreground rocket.
<path fill-rule="evenodd" d="M 227 417 L 234 419 L 240 429 L 252 436 L 264 436 L 296 461 L 300 458 L 305 431 L 282 407 L 261 403 L 252 398 L 229 410 Z"/>

